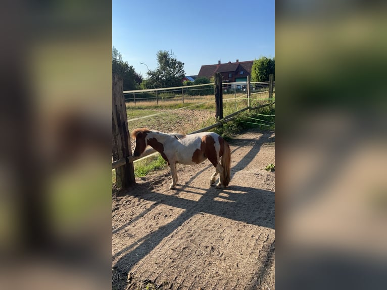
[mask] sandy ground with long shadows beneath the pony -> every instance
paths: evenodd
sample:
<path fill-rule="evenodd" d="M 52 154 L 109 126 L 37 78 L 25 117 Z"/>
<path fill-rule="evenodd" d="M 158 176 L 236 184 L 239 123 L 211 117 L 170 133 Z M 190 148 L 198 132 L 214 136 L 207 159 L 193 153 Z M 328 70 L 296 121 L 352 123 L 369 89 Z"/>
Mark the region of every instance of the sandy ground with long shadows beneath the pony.
<path fill-rule="evenodd" d="M 230 141 L 229 187 L 210 186 L 208 160 L 137 179 L 113 197 L 113 288 L 274 289 L 274 133 Z"/>

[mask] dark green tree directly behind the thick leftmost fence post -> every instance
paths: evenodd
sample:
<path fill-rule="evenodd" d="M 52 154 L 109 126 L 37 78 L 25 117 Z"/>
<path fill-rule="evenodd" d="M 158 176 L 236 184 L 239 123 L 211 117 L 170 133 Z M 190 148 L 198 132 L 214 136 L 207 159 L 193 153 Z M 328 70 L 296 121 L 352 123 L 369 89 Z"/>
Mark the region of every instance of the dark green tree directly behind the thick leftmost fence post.
<path fill-rule="evenodd" d="M 114 46 L 112 50 L 112 70 L 122 77 L 124 90 L 139 88 L 142 76 L 134 70 L 133 66 L 122 61 L 122 55 Z"/>

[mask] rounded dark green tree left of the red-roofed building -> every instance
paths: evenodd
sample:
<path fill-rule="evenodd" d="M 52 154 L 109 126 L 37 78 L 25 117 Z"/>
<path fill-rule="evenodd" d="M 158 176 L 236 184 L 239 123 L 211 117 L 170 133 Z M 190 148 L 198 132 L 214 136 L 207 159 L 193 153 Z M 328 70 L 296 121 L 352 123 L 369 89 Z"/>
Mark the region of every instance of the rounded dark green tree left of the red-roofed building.
<path fill-rule="evenodd" d="M 157 52 L 158 67 L 147 72 L 149 78 L 144 84 L 146 88 L 181 86 L 185 75 L 184 63 L 178 61 L 172 53 Z"/>

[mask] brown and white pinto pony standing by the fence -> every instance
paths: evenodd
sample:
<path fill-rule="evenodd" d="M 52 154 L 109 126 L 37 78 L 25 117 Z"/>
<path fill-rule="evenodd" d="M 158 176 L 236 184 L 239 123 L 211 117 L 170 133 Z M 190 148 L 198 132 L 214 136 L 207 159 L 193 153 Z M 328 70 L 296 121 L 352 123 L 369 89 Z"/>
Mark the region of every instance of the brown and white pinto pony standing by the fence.
<path fill-rule="evenodd" d="M 176 163 L 193 165 L 206 159 L 215 167 L 210 184 L 215 184 L 215 179 L 220 174 L 216 188 L 226 187 L 230 182 L 231 151 L 228 143 L 218 134 L 203 132 L 191 135 L 177 133 L 162 133 L 147 128 L 134 129 L 131 133 L 136 139 L 133 155 L 140 156 L 147 146 L 158 151 L 171 169 L 172 183 L 169 189 L 176 186 Z"/>

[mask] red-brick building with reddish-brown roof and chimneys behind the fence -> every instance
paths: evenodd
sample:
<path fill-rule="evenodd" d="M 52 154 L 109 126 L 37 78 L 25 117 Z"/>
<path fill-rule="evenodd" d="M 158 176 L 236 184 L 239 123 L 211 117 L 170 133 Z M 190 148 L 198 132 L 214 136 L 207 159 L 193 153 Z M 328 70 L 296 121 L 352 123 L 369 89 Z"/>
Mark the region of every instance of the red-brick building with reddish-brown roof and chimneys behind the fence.
<path fill-rule="evenodd" d="M 214 73 L 220 73 L 222 76 L 222 83 L 226 84 L 227 82 L 237 82 L 237 81 L 247 81 L 247 76 L 251 75 L 251 68 L 254 61 L 246 62 L 228 62 L 222 64 L 220 60 L 216 65 L 203 65 L 200 68 L 198 77 L 208 77 L 211 78 L 214 76 Z"/>

